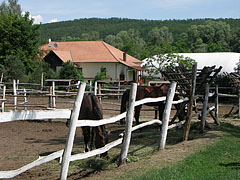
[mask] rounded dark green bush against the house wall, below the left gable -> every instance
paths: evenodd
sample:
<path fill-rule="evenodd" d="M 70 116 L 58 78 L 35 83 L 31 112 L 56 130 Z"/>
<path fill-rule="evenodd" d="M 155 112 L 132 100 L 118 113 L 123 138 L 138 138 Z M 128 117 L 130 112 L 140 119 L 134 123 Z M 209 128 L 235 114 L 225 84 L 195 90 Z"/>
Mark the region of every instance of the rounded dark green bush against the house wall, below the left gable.
<path fill-rule="evenodd" d="M 63 63 L 62 68 L 59 72 L 60 79 L 75 79 L 75 80 L 83 80 L 83 76 L 78 68 L 72 64 L 70 61 Z"/>

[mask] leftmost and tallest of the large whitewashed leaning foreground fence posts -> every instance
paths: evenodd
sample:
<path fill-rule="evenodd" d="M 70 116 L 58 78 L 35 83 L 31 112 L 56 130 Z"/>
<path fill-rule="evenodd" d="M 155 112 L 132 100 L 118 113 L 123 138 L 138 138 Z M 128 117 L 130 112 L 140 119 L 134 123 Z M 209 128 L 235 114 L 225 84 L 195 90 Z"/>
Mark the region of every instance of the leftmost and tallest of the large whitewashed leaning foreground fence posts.
<path fill-rule="evenodd" d="M 83 100 L 83 95 L 85 91 L 86 83 L 82 83 L 72 111 L 71 115 L 71 120 L 70 120 L 70 126 L 68 130 L 68 138 L 67 138 L 67 143 L 64 149 L 64 154 L 63 154 L 63 159 L 62 159 L 62 167 L 61 167 L 61 174 L 60 174 L 60 180 L 66 180 L 67 179 L 67 173 L 68 173 L 68 168 L 69 168 L 69 163 L 70 163 L 70 156 L 72 152 L 72 147 L 73 147 L 73 141 L 74 141 L 74 136 L 76 132 L 76 124 L 78 120 L 78 116 L 80 113 L 80 108 Z"/>

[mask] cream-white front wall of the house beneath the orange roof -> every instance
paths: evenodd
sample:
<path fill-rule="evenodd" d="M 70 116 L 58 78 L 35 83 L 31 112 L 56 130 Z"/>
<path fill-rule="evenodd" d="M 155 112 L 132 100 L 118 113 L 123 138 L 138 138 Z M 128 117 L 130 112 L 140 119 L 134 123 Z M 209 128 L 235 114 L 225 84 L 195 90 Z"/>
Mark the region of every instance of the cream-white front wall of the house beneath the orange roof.
<path fill-rule="evenodd" d="M 124 74 L 125 80 L 132 80 L 132 77 L 129 77 L 129 68 L 120 63 L 79 63 L 79 65 L 84 78 L 94 78 L 100 72 L 101 67 L 104 67 L 107 69 L 107 76 L 112 80 L 119 80 L 121 73 Z"/>

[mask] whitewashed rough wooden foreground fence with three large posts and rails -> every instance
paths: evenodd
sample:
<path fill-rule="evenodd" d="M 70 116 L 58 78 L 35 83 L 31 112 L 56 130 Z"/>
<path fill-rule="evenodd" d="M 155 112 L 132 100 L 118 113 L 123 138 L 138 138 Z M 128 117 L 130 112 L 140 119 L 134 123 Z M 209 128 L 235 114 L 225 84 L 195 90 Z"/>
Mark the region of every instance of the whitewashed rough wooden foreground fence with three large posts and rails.
<path fill-rule="evenodd" d="M 136 95 L 136 90 L 137 90 L 137 85 L 134 83 L 132 84 L 131 87 L 131 95 L 129 97 L 129 108 L 127 112 L 124 112 L 120 115 L 117 115 L 115 117 L 109 118 L 109 119 L 102 119 L 99 121 L 96 120 L 78 120 L 78 115 L 79 111 L 81 108 L 81 102 L 83 99 L 83 94 L 85 90 L 86 83 L 82 83 L 80 86 L 80 89 L 78 91 L 77 98 L 74 103 L 74 108 L 73 111 L 71 112 L 70 110 L 49 110 L 49 111 L 15 111 L 15 112 L 6 112 L 0 114 L 0 123 L 1 122 L 8 122 L 8 121 L 13 121 L 13 120 L 30 120 L 30 119 L 54 119 L 54 118 L 63 118 L 63 119 L 68 119 L 71 117 L 70 121 L 70 127 L 69 127 L 69 133 L 68 133 L 68 138 L 67 138 L 67 143 L 65 146 L 65 149 L 59 150 L 57 152 L 54 152 L 48 156 L 43 156 L 39 157 L 38 160 L 21 167 L 17 170 L 11 170 L 11 171 L 0 171 L 0 178 L 12 178 L 15 177 L 35 166 L 38 166 L 40 164 L 43 164 L 45 162 L 49 162 L 51 160 L 54 160 L 56 158 L 61 158 L 62 157 L 62 167 L 61 167 L 61 173 L 60 173 L 60 179 L 65 180 L 67 179 L 67 173 L 68 173 L 68 168 L 69 168 L 69 163 L 70 161 L 75 161 L 75 160 L 80 160 L 80 159 L 85 159 L 91 156 L 95 156 L 98 154 L 102 154 L 109 149 L 121 144 L 122 144 L 122 149 L 121 149 L 121 154 L 120 154 L 120 160 L 119 160 L 119 165 L 122 165 L 127 157 L 128 153 L 128 147 L 130 144 L 131 140 L 131 132 L 135 131 L 139 128 L 151 125 L 151 124 L 163 124 L 162 126 L 162 131 L 161 131 L 161 139 L 159 143 L 159 149 L 164 149 L 165 143 L 166 143 L 166 137 L 167 137 L 167 130 L 173 127 L 176 127 L 178 125 L 183 124 L 184 122 L 180 122 L 171 126 L 168 126 L 169 122 L 169 116 L 171 112 L 171 106 L 172 103 L 181 103 L 184 100 L 180 100 L 177 102 L 173 102 L 173 96 L 175 93 L 175 88 L 176 88 L 176 83 L 172 82 L 170 85 L 170 89 L 168 92 L 167 97 L 159 97 L 159 98 L 147 98 L 143 99 L 140 101 L 135 101 L 135 95 Z M 142 123 L 140 125 L 137 125 L 135 127 L 132 127 L 132 121 L 133 121 L 133 112 L 134 112 L 134 107 L 138 106 L 140 104 L 144 103 L 149 103 L 149 102 L 159 102 L 159 101 L 166 101 L 166 106 L 164 109 L 163 113 L 163 122 L 160 120 L 152 120 L 148 121 L 146 123 Z M 61 111 L 61 113 L 59 112 Z M 44 113 L 44 114 L 42 114 Z M 80 154 L 75 154 L 71 155 L 72 152 L 72 147 L 73 147 L 73 141 L 74 141 L 74 136 L 75 136 L 75 131 L 77 127 L 82 127 L 82 126 L 99 126 L 99 125 L 104 125 L 104 124 L 109 124 L 109 123 L 115 123 L 119 121 L 120 119 L 126 117 L 126 127 L 124 131 L 124 136 L 120 137 L 119 139 L 110 142 L 109 144 L 106 144 L 104 147 L 95 149 L 90 152 L 86 153 L 80 153 Z"/>

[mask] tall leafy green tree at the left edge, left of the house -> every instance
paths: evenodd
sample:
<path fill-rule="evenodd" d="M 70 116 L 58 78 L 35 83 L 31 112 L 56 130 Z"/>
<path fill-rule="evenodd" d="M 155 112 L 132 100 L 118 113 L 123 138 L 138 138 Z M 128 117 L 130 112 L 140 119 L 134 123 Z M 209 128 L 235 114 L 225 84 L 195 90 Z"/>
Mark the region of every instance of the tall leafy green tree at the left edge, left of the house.
<path fill-rule="evenodd" d="M 31 73 L 39 54 L 39 28 L 40 25 L 33 25 L 29 13 L 22 15 L 17 0 L 3 2 L 0 6 L 0 64 L 9 68 L 7 60 L 15 59 L 23 63 L 25 74 Z"/>

